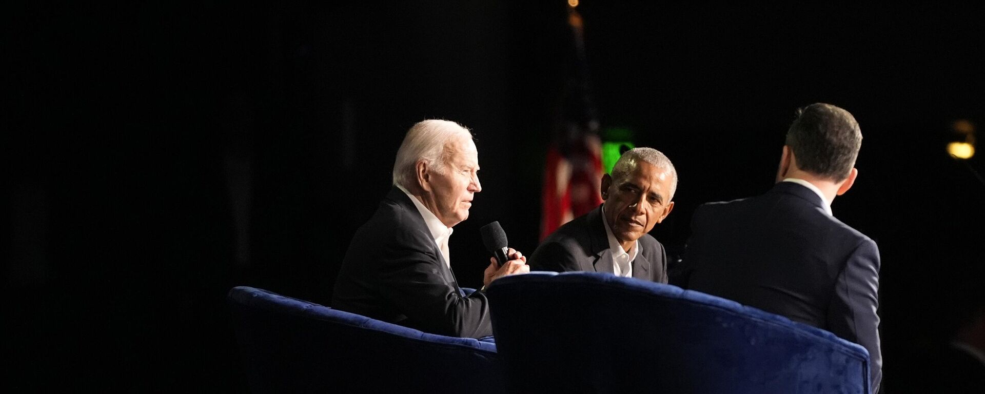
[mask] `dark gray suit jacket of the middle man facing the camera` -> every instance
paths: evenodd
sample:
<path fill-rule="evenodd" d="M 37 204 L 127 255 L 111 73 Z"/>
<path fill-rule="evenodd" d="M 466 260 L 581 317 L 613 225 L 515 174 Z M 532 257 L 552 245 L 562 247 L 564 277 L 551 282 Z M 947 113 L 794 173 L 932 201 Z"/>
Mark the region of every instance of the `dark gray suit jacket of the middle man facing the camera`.
<path fill-rule="evenodd" d="M 527 263 L 531 271 L 591 271 L 613 273 L 609 236 L 602 221 L 602 206 L 575 218 L 548 235 Z M 656 238 L 636 239 L 639 253 L 632 261 L 632 277 L 667 283 L 667 252 Z"/>

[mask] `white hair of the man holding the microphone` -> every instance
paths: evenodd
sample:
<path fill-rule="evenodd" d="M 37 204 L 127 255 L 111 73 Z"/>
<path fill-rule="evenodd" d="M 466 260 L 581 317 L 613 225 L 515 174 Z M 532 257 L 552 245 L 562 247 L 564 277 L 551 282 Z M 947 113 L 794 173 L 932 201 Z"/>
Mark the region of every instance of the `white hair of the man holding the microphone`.
<path fill-rule="evenodd" d="M 420 161 L 443 173 L 447 160 L 445 144 L 463 137 L 471 139 L 472 133 L 465 126 L 450 120 L 426 119 L 416 123 L 407 130 L 404 142 L 397 150 L 397 160 L 393 163 L 393 184 L 410 189 Z"/>

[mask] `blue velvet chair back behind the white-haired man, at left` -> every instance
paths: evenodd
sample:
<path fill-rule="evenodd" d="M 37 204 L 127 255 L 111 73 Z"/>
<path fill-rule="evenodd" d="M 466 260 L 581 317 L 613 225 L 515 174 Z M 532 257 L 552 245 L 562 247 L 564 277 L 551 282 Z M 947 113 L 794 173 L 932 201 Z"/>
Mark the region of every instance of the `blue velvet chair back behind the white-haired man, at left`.
<path fill-rule="evenodd" d="M 495 344 L 432 335 L 265 290 L 228 299 L 254 393 L 502 393 Z"/>

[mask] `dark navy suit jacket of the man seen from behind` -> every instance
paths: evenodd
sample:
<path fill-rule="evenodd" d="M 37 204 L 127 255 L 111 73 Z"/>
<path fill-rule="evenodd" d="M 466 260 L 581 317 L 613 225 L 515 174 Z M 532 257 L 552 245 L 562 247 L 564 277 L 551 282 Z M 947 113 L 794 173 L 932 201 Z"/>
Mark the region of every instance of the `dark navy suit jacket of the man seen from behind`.
<path fill-rule="evenodd" d="M 766 194 L 698 207 L 681 277 L 671 284 L 736 300 L 830 331 L 869 351 L 882 379 L 879 248 L 827 215 L 821 197 L 793 182 Z"/>

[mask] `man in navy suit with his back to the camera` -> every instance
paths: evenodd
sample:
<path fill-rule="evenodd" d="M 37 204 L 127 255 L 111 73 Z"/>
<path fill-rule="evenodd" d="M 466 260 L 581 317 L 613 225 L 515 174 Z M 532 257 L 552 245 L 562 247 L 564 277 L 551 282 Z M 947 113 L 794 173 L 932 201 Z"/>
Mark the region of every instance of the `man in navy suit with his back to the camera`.
<path fill-rule="evenodd" d="M 878 392 L 879 248 L 831 215 L 858 176 L 862 131 L 848 111 L 814 103 L 787 131 L 776 184 L 763 195 L 701 205 L 684 268 L 671 283 L 834 333 L 869 351 Z"/>

